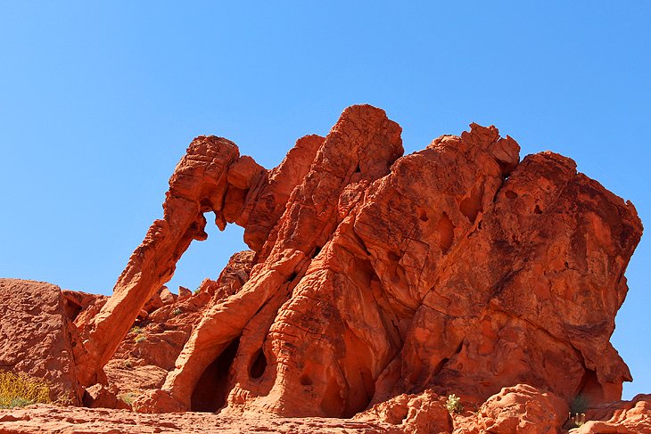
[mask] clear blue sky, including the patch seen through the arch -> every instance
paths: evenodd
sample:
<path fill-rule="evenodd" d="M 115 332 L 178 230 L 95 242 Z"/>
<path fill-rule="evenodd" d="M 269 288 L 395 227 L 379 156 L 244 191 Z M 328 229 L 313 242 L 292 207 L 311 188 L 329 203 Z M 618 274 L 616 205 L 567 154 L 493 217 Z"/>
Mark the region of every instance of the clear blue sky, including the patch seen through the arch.
<path fill-rule="evenodd" d="M 651 2 L 238 3 L 0 4 L 0 275 L 109 293 L 195 135 L 271 168 L 360 102 L 408 152 L 495 124 L 651 222 Z M 216 277 L 241 235 L 211 230 L 171 285 Z M 613 338 L 625 397 L 651 393 L 648 240 Z"/>

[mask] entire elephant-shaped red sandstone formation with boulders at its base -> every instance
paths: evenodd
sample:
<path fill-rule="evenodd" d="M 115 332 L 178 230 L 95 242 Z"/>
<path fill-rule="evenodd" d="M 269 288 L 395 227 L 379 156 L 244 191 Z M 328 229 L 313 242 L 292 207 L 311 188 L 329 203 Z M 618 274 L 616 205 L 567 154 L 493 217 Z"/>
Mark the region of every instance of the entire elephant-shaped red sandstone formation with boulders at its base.
<path fill-rule="evenodd" d="M 67 296 L 76 380 L 136 390 L 143 413 L 357 414 L 408 432 L 556 432 L 575 397 L 620 399 L 630 373 L 609 339 L 633 205 L 556 153 L 521 161 L 495 127 L 406 156 L 400 132 L 353 106 L 271 170 L 197 137 L 111 298 Z M 207 213 L 251 250 L 175 296 L 163 285 Z M 451 393 L 477 413 L 450 415 Z"/>

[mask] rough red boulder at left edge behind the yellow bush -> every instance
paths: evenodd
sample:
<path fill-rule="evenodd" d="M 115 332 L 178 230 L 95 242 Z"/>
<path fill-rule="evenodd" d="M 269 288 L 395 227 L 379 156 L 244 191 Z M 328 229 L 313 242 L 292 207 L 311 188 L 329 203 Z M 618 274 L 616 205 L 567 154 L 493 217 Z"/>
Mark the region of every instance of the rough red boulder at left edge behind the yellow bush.
<path fill-rule="evenodd" d="M 79 404 L 67 306 L 58 286 L 0 279 L 0 370 L 48 381 L 50 399 Z"/>

